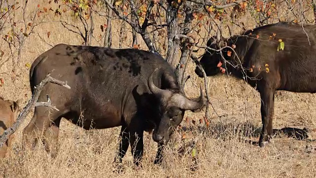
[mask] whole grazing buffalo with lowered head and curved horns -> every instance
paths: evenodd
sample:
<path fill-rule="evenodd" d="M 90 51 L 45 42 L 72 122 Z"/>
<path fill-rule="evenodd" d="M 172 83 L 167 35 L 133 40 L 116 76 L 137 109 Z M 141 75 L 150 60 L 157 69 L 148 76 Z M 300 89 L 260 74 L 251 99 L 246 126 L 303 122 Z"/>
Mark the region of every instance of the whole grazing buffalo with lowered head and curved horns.
<path fill-rule="evenodd" d="M 121 126 L 115 158 L 118 163 L 130 143 L 134 163 L 138 165 L 143 155 L 143 132 L 154 130 L 157 164 L 163 145 L 172 129 L 181 123 L 185 111 L 200 111 L 205 106 L 202 90 L 200 97 L 188 99 L 170 65 L 161 56 L 145 50 L 56 45 L 33 62 L 32 93 L 52 70 L 51 77 L 67 81 L 71 89 L 51 83 L 43 88 L 38 102 L 45 102 L 48 94 L 60 111 L 48 114 L 47 107 L 36 107 L 33 119 L 23 131 L 23 139 L 36 143 L 35 134 L 43 130 L 45 145 L 53 156 L 63 117 L 85 130 Z"/>

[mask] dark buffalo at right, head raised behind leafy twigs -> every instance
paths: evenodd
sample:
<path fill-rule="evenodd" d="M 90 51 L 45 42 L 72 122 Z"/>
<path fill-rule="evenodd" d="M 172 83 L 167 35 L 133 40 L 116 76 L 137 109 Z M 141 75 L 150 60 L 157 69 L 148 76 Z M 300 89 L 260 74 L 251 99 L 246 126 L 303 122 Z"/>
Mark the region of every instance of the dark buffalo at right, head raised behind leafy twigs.
<path fill-rule="evenodd" d="M 196 61 L 206 76 L 232 74 L 259 91 L 263 124 L 260 147 L 272 138 L 276 90 L 316 92 L 316 26 L 305 25 L 304 29 L 306 33 L 298 24 L 279 22 L 228 39 L 217 35 L 207 42 L 216 50 L 208 49 L 201 60 Z M 284 42 L 283 49 L 278 48 L 281 42 Z M 218 49 L 225 43 L 231 48 L 226 47 L 220 52 Z M 203 78 L 198 67 L 195 73 Z"/>

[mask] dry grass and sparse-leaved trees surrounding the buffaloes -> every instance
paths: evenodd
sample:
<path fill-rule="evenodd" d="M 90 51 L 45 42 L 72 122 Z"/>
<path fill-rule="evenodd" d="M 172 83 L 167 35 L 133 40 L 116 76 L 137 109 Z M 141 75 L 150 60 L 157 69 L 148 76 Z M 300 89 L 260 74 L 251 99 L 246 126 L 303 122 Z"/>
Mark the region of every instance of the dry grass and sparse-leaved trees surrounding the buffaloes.
<path fill-rule="evenodd" d="M 133 165 L 129 148 L 121 174 L 113 172 L 119 127 L 85 131 L 62 120 L 56 158 L 41 144 L 22 152 L 22 131 L 33 116 L 32 108 L 14 133 L 7 157 L 0 160 L 1 177 L 316 177 L 315 94 L 278 91 L 275 99 L 274 128 L 305 128 L 308 140 L 278 135 L 259 148 L 251 144 L 258 141 L 262 127 L 259 93 L 227 74 L 204 81 L 194 73 L 194 60 L 217 31 L 229 37 L 279 21 L 315 24 L 315 4 L 315 0 L 1 0 L 0 95 L 21 99 L 21 110 L 32 95 L 32 62 L 60 43 L 157 52 L 176 69 L 189 97 L 199 95 L 201 83 L 210 99 L 205 112 L 187 111 L 161 165 L 153 164 L 157 143 L 146 133 L 143 167 Z"/>

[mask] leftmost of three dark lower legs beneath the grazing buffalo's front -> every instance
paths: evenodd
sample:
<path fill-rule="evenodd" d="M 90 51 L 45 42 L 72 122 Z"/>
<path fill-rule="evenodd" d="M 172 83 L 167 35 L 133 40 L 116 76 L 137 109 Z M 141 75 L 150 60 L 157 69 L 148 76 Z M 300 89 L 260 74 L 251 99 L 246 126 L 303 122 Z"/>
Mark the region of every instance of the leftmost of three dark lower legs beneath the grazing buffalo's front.
<path fill-rule="evenodd" d="M 119 143 L 118 143 L 118 151 L 114 158 L 115 164 L 118 164 L 118 170 L 120 171 L 122 159 L 126 154 L 126 151 L 129 146 L 129 131 L 127 130 L 126 126 L 122 125 L 119 133 Z"/>

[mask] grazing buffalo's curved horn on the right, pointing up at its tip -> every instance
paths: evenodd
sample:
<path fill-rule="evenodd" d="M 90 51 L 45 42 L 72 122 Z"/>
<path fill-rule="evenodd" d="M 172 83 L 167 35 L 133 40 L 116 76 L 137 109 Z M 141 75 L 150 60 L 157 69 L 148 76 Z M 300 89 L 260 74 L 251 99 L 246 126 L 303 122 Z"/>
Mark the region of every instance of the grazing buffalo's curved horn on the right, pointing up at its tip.
<path fill-rule="evenodd" d="M 185 110 L 196 110 L 203 107 L 205 104 L 205 100 L 204 100 L 204 93 L 203 93 L 201 84 L 199 85 L 199 89 L 200 89 L 200 96 L 199 96 L 198 102 L 192 101 L 184 97 L 183 95 L 179 95 L 179 97 L 177 98 L 178 107 Z"/>

